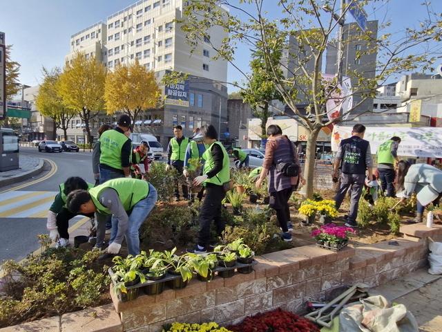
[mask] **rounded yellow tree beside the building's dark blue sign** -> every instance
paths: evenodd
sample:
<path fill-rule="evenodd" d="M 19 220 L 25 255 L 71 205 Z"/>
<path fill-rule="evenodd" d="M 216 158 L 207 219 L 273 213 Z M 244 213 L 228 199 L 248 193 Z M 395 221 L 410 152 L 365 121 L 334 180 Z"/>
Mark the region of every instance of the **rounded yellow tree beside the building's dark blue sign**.
<path fill-rule="evenodd" d="M 132 123 L 141 111 L 156 107 L 160 95 L 153 71 L 148 71 L 138 60 L 118 65 L 106 77 L 104 100 L 107 113 L 122 111 L 131 117 Z"/>

